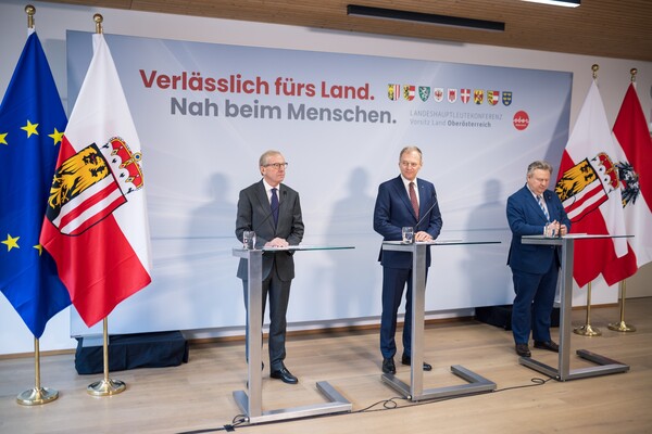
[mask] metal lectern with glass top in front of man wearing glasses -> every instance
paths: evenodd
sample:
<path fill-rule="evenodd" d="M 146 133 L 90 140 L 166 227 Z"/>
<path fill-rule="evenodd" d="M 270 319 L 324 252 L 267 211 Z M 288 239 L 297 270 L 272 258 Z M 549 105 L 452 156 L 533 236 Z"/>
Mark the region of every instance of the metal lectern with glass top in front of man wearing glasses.
<path fill-rule="evenodd" d="M 234 248 L 234 256 L 248 259 L 249 286 L 247 319 L 249 321 L 249 366 L 248 366 L 248 393 L 234 392 L 234 398 L 240 410 L 247 416 L 249 423 L 261 423 L 285 419 L 305 418 L 316 414 L 350 412 L 351 403 L 325 381 L 317 382 L 317 388 L 329 400 L 324 404 L 281 408 L 263 411 L 263 391 L 261 372 L 262 321 L 263 321 L 263 253 L 279 251 L 324 251 L 353 248 L 352 246 L 290 246 L 290 247 L 263 247 L 262 250 Z"/>

